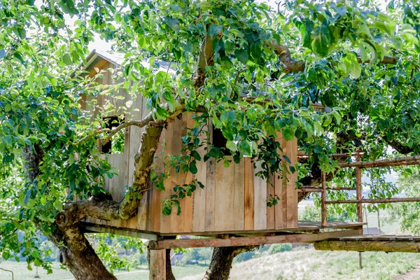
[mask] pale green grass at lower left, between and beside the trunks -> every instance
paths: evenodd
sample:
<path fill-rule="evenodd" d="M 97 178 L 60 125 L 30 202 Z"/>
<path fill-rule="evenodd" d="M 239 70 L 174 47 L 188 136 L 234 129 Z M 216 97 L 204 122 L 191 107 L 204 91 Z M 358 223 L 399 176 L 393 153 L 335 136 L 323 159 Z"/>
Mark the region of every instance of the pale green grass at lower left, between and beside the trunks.
<path fill-rule="evenodd" d="M 44 269 L 38 268 L 38 275 L 41 280 L 70 280 L 73 279 L 72 274 L 64 269 L 59 268 L 59 263 L 55 262 L 52 274 L 47 274 Z M 36 268 L 33 270 L 27 269 L 26 262 L 13 262 L 13 261 L 2 261 L 0 262 L 0 268 L 8 269 L 13 271 L 15 280 L 29 280 L 34 279 L 36 275 Z M 143 269 L 145 268 L 145 269 Z M 206 271 L 207 266 L 202 265 L 186 265 L 184 267 L 174 266 L 172 270 L 176 279 L 181 277 L 193 275 L 193 274 L 202 274 Z M 141 267 L 141 269 L 130 269 L 130 272 L 120 271 L 115 272 L 118 280 L 148 280 L 148 270 L 146 267 Z M 0 279 L 1 280 L 12 280 L 12 274 L 10 272 L 5 272 L 0 269 Z"/>

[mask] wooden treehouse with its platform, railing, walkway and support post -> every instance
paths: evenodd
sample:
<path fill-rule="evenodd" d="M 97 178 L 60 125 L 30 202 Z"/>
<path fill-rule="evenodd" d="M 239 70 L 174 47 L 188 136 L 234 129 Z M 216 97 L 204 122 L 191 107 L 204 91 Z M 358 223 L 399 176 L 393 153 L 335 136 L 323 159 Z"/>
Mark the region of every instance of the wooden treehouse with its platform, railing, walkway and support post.
<path fill-rule="evenodd" d="M 84 69 L 94 76 L 97 71 L 104 71 L 97 82 L 102 85 L 127 83 L 113 78 L 121 68 L 123 55 L 93 51 L 87 57 Z M 167 62 L 159 62 L 160 71 L 172 74 L 174 70 Z M 132 85 L 128 85 L 132 86 Z M 115 96 L 114 96 L 115 95 Z M 147 99 L 139 94 L 132 96 L 120 89 L 114 94 L 98 94 L 97 97 L 83 97 L 81 109 L 97 116 L 101 108 L 113 104 L 115 113 L 102 116 L 106 126 L 112 129 L 121 120 L 141 120 L 148 116 Z M 119 118 L 118 118 L 119 116 Z M 155 155 L 154 170 L 164 172 L 162 159 L 167 155 L 180 155 L 182 137 L 193 127 L 192 114 L 176 118 L 167 124 L 160 136 L 160 145 Z M 209 132 L 212 145 L 223 148 L 225 139 L 220 130 L 211 123 L 203 129 Z M 132 186 L 134 155 L 139 151 L 144 128 L 126 127 L 123 134 L 116 134 L 108 144 L 100 146 L 102 156 L 115 168 L 118 176 L 106 178 L 104 188 L 111 193 L 113 200 L 120 202 L 125 194 L 125 186 Z M 117 137 L 118 136 L 118 137 Z M 297 141 L 286 141 L 281 133 L 277 134 L 281 144 L 285 169 L 295 166 L 299 160 L 307 157 L 297 151 Z M 204 147 L 199 151 L 204 156 Z M 363 235 L 363 203 L 420 201 L 420 198 L 364 199 L 362 197 L 361 169 L 389 167 L 395 165 L 419 165 L 420 157 L 396 158 L 360 162 L 360 153 L 330 155 L 334 158 L 356 159 L 339 163 L 341 168 L 356 169 L 356 188 L 327 187 L 326 174 L 322 172 L 321 187 L 296 187 L 297 172 L 274 174 L 269 182 L 255 176 L 260 170 L 258 162 L 251 158 L 241 158 L 239 164 L 231 162 L 228 167 L 224 162 L 212 159 L 197 161 L 197 172 L 176 173 L 169 169 L 170 177 L 165 183 L 165 190 L 158 190 L 153 184 L 146 190 L 139 205 L 137 216 L 127 221 L 93 220 L 83 223 L 86 232 L 109 232 L 149 239 L 151 249 L 151 279 L 165 279 L 165 250 L 170 248 L 192 248 L 206 246 L 251 246 L 275 243 L 314 242 L 320 250 L 347 251 L 420 251 L 420 237 L 377 237 Z M 287 160 L 286 160 L 287 159 Z M 174 195 L 175 186 L 183 186 L 193 181 L 200 181 L 204 188 L 197 187 L 190 197 L 179 200 L 181 213 L 176 209 L 169 216 L 163 214 L 163 203 Z M 355 190 L 356 200 L 328 201 L 326 193 L 335 190 Z M 309 193 L 321 193 L 321 221 L 297 221 L 297 205 L 300 197 Z M 278 197 L 278 203 L 267 207 L 270 197 Z M 329 204 L 353 203 L 357 205 L 356 223 L 327 222 L 326 207 Z M 175 207 L 173 207 L 175 208 Z M 211 237 L 205 239 L 174 239 L 176 236 L 197 235 Z"/>

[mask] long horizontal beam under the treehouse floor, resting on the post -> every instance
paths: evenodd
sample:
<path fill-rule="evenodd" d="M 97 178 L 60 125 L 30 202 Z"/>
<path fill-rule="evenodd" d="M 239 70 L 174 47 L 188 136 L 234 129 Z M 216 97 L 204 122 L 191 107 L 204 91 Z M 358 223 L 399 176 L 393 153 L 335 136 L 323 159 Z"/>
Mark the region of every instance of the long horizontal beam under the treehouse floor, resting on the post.
<path fill-rule="evenodd" d="M 361 234 L 361 227 L 356 230 L 339 230 L 320 233 L 300 233 L 290 235 L 276 235 L 268 237 L 233 237 L 229 239 L 172 239 L 149 241 L 150 249 L 169 248 L 201 248 L 201 247 L 230 247 L 230 246 L 256 246 L 276 243 L 310 243 L 333 237 L 349 237 Z M 151 250 L 152 251 L 152 250 Z"/>

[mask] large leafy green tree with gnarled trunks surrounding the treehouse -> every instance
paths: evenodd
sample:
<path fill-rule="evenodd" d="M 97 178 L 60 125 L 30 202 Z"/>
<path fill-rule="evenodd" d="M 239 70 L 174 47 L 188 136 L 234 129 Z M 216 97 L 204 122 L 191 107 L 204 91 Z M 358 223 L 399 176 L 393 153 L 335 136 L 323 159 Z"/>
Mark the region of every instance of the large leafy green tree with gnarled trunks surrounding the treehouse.
<path fill-rule="evenodd" d="M 328 180 L 335 174 L 336 183 L 349 181 L 330 153 L 364 151 L 364 160 L 376 159 L 392 146 L 419 154 L 419 16 L 415 1 L 379 7 L 367 0 L 295 0 L 270 10 L 254 1 L 1 0 L 3 258 L 22 253 L 29 265 L 50 269 L 36 238 L 41 232 L 76 279 L 116 279 L 78 225 L 136 214 L 148 182 L 165 180 L 150 172 L 160 133 L 183 113 L 200 112 L 196 127 L 211 118 L 233 159 L 262 160 L 265 178 L 295 171 L 282 169 L 274 136 L 296 137 L 310 156 L 297 170 L 304 186 L 316 186 L 321 170 Z M 80 78 L 75 69 L 94 34 L 125 52 L 118 74 L 127 82 L 103 88 Z M 158 59 L 172 62 L 174 78 L 154 71 Z M 119 87 L 147 97 L 152 113 L 111 131 L 100 116 L 80 110 L 82 94 L 111 96 Z M 315 111 L 314 104 L 325 110 Z M 145 133 L 134 157 L 134 184 L 117 203 L 102 188 L 104 176 L 113 174 L 97 141 L 128 125 Z M 183 155 L 169 159 L 181 172 L 194 173 L 196 160 L 225 158 L 216 147 L 198 158 L 194 151 L 203 144 L 194 133 Z M 180 191 L 179 197 L 189 194 Z M 23 239 L 18 232 L 25 232 Z M 227 279 L 235 255 L 248 249 L 215 249 L 207 277 Z"/>

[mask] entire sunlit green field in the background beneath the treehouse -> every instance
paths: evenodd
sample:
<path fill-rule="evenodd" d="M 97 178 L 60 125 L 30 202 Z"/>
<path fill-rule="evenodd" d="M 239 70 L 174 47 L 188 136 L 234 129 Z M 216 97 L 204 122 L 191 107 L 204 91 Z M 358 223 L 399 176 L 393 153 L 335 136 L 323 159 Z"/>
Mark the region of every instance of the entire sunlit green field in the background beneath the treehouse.
<path fill-rule="evenodd" d="M 72 279 L 71 274 L 59 269 L 46 275 L 39 269 L 41 279 Z M 233 265 L 231 279 L 279 280 L 279 279 L 406 279 L 404 275 L 420 266 L 420 254 L 415 253 L 363 253 L 363 269 L 358 267 L 357 252 L 315 251 L 313 248 L 298 248 L 294 251 L 263 255 Z M 35 271 L 28 271 L 24 262 L 1 262 L 1 268 L 13 270 L 15 280 L 34 279 Z M 174 266 L 178 280 L 201 280 L 206 266 Z M 420 269 L 409 279 L 417 279 Z M 119 280 L 146 280 L 146 269 L 116 272 Z M 11 274 L 0 271 L 1 280 L 11 280 Z M 420 279 L 420 278 L 419 278 Z"/>

